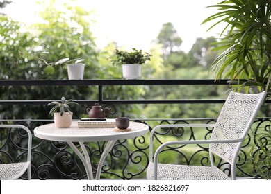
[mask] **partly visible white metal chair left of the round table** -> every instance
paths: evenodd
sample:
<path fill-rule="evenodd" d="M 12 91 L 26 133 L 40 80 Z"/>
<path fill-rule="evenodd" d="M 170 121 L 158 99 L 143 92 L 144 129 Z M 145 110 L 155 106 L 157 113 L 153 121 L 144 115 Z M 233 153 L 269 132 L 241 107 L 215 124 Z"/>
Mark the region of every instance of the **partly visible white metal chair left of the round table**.
<path fill-rule="evenodd" d="M 24 125 L 0 125 L 0 128 L 17 128 L 26 130 L 28 134 L 27 159 L 25 162 L 0 164 L 0 180 L 13 180 L 21 177 L 27 170 L 27 178 L 31 179 L 31 145 L 32 134 Z"/>

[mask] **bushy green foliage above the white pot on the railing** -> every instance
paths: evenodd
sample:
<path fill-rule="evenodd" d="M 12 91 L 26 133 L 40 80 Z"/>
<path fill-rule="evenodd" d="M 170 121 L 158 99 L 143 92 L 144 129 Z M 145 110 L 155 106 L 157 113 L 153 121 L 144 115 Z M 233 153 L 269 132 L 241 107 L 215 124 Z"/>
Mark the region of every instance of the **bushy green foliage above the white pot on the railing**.
<path fill-rule="evenodd" d="M 142 50 L 133 48 L 133 51 L 119 51 L 115 49 L 115 55 L 113 55 L 113 65 L 117 64 L 145 64 L 147 60 L 151 60 L 151 55 Z"/>

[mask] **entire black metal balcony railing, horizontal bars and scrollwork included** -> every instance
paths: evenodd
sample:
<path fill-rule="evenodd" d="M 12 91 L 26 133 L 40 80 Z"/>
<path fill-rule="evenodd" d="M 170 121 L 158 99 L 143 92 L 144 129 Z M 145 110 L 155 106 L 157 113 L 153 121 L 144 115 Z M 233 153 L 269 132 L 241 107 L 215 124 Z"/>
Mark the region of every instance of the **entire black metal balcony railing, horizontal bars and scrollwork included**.
<path fill-rule="evenodd" d="M 177 100 L 106 100 L 103 97 L 104 86 L 107 85 L 229 85 L 229 80 L 0 80 L 0 87 L 3 86 L 88 86 L 97 87 L 98 98 L 95 100 L 75 99 L 74 101 L 89 105 L 101 103 L 104 105 L 115 104 L 222 104 L 224 99 L 177 99 Z M 47 105 L 51 100 L 0 100 L 0 105 Z M 136 122 L 149 125 L 150 130 L 158 124 L 164 123 L 211 123 L 215 118 L 195 118 L 195 119 L 164 119 L 164 118 L 135 118 Z M 2 119 L 0 123 L 16 123 L 26 125 L 33 130 L 39 125 L 51 123 L 48 119 Z M 256 129 L 265 128 L 269 125 L 269 118 L 258 118 L 254 126 Z M 163 143 L 163 138 L 170 136 L 171 139 L 197 139 L 203 137 L 208 139 L 212 129 L 205 129 L 197 135 L 196 130 L 189 129 L 168 129 L 156 133 L 156 141 Z M 256 130 L 257 131 L 257 130 Z M 25 152 L 25 134 L 18 133 L 16 139 L 12 139 L 9 129 L 1 132 L 0 159 L 2 162 L 20 161 Z M 237 164 L 238 177 L 253 177 L 254 170 L 251 168 L 249 152 L 254 144 L 254 134 L 250 133 L 240 151 Z M 104 150 L 106 142 L 85 143 L 92 161 L 92 168 L 95 172 L 101 152 Z M 8 155 L 8 151 L 16 150 L 13 155 Z M 192 151 L 191 151 L 192 150 Z M 256 151 L 255 151 L 256 152 Z M 176 163 L 176 159 L 183 164 L 208 164 L 208 148 L 197 145 L 188 148 L 184 145 L 181 148 L 168 148 L 167 157 Z M 252 153 L 253 155 L 253 153 Z M 135 139 L 124 139 L 117 141 L 106 157 L 105 164 L 101 171 L 101 178 L 120 178 L 120 179 L 141 179 L 145 178 L 147 164 L 149 162 L 149 134 Z M 193 163 L 192 161 L 197 161 Z M 230 173 L 229 165 L 224 161 L 216 161 L 217 166 L 224 172 Z M 65 142 L 44 141 L 33 136 L 32 148 L 32 178 L 35 179 L 85 179 L 86 173 L 83 164 L 71 148 Z M 22 177 L 23 179 L 25 176 Z"/>

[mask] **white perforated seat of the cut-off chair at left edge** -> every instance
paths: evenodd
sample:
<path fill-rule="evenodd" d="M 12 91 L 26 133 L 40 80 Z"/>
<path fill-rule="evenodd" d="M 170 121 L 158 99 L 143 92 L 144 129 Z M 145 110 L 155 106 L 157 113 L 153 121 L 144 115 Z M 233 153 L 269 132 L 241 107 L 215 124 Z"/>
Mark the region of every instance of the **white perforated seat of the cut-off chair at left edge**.
<path fill-rule="evenodd" d="M 0 164 L 0 180 L 13 180 L 21 177 L 30 162 Z"/>

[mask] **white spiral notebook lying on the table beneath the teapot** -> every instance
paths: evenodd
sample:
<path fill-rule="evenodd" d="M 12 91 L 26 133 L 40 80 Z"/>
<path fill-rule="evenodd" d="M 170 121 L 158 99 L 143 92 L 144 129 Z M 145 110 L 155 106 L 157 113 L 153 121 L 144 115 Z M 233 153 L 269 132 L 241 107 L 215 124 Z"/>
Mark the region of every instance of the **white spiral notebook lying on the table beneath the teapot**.
<path fill-rule="evenodd" d="M 106 121 L 78 121 L 78 127 L 116 127 L 115 118 L 108 118 Z"/>

